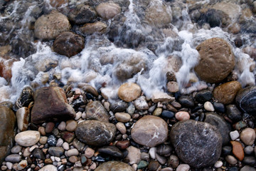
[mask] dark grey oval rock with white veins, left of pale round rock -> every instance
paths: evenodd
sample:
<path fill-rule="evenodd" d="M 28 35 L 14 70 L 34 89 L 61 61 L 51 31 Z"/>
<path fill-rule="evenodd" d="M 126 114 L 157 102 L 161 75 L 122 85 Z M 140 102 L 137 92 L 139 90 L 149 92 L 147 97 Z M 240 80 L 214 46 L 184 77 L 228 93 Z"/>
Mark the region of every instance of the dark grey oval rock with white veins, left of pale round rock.
<path fill-rule="evenodd" d="M 78 124 L 75 135 L 87 145 L 108 145 L 114 139 L 117 128 L 112 123 L 98 120 L 86 120 Z"/>

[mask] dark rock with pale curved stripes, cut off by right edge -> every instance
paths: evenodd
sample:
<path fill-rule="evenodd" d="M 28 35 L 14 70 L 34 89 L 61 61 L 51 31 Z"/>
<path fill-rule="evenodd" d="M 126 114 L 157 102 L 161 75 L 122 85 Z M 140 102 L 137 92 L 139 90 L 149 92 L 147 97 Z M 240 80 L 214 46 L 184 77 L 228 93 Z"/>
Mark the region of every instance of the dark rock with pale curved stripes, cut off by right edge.
<path fill-rule="evenodd" d="M 245 113 L 255 115 L 256 112 L 256 86 L 249 86 L 240 90 L 235 98 L 237 106 Z"/>

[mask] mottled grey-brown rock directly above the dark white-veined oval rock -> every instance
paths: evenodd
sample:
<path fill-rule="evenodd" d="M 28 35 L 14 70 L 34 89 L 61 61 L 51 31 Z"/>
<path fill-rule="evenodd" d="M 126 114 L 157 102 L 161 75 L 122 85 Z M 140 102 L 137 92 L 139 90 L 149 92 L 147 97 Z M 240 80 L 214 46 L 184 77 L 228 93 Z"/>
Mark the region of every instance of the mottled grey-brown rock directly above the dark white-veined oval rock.
<path fill-rule="evenodd" d="M 107 110 L 104 108 L 102 103 L 100 101 L 91 101 L 88 103 L 85 107 L 86 111 L 86 119 L 89 120 L 100 120 L 102 122 L 109 122 L 109 114 L 107 113 Z"/>

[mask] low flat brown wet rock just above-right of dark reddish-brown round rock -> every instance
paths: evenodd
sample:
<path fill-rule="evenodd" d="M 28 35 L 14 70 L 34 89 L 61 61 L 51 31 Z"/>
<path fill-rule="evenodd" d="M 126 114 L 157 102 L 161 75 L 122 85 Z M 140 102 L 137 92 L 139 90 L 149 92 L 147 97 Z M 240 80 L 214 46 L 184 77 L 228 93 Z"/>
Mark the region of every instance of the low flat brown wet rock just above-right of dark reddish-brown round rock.
<path fill-rule="evenodd" d="M 84 34 L 92 34 L 92 33 L 106 33 L 107 32 L 107 24 L 97 21 L 95 23 L 88 23 L 84 26 L 80 27 L 80 31 Z"/>

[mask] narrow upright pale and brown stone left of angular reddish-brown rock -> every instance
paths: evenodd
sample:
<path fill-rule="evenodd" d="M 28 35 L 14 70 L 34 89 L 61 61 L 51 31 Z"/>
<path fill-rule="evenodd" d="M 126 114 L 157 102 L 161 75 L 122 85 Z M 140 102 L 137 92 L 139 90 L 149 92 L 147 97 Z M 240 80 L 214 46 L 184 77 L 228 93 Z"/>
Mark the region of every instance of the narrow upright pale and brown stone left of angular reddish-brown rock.
<path fill-rule="evenodd" d="M 28 129 L 28 121 L 30 117 L 29 108 L 22 107 L 16 112 L 18 130 L 24 131 Z"/>

